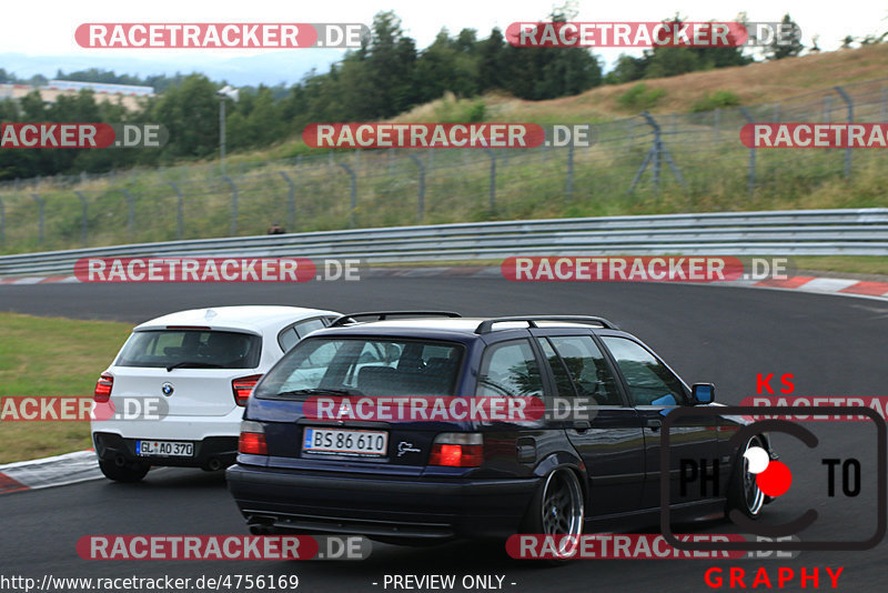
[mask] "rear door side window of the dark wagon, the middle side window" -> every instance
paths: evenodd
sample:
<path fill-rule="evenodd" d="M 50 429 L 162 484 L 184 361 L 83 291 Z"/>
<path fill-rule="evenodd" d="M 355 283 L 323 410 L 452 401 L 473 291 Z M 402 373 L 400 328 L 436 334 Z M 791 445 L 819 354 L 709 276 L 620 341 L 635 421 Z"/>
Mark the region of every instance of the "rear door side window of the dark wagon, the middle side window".
<path fill-rule="evenodd" d="M 573 389 L 598 405 L 623 405 L 614 375 L 591 335 L 553 335 L 545 341 L 549 346 L 544 351 L 562 395 L 569 396 Z M 558 355 L 553 358 L 556 351 Z M 562 389 L 564 383 L 569 386 Z"/>

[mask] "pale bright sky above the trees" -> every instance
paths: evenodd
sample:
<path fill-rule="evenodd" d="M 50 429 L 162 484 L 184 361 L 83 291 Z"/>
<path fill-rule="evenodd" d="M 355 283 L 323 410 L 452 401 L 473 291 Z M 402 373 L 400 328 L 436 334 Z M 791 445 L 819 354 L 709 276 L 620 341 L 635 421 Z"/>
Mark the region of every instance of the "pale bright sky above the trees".
<path fill-rule="evenodd" d="M 505 28 L 515 21 L 544 19 L 553 7 L 562 6 L 563 0 L 447 0 L 437 3 L 430 0 L 373 0 L 306 2 L 292 0 L 250 0 L 248 2 L 221 2 L 204 0 L 151 0 L 148 2 L 127 2 L 121 0 L 81 0 L 78 2 L 39 0 L 9 0 L 3 6 L 0 19 L 0 68 L 19 76 L 29 76 L 23 64 L 30 64 L 9 54 L 29 57 L 59 57 L 77 60 L 94 59 L 95 66 L 113 63 L 118 73 L 120 64 L 132 58 L 133 64 L 141 64 L 140 73 L 150 69 L 151 61 L 158 62 L 159 70 L 169 70 L 171 63 L 181 63 L 182 71 L 200 69 L 203 64 L 223 64 L 232 58 L 261 56 L 272 50 L 248 51 L 233 49 L 219 50 L 108 50 L 83 49 L 75 44 L 73 32 L 84 22 L 362 22 L 370 24 L 373 16 L 381 10 L 393 10 L 402 20 L 405 32 L 414 38 L 418 48 L 427 47 L 442 27 L 452 33 L 463 28 L 473 28 L 478 37 L 486 37 L 493 27 Z M 819 37 L 823 50 L 838 48 L 841 39 L 851 34 L 862 37 L 888 30 L 888 6 L 871 0 L 846 0 L 820 4 L 810 0 L 744 0 L 713 2 L 712 0 L 675 0 L 674 2 L 635 0 L 632 2 L 596 2 L 574 0 L 571 4 L 577 11 L 576 21 L 659 21 L 672 17 L 676 11 L 690 21 L 733 20 L 739 12 L 746 12 L 749 21 L 779 21 L 789 13 L 803 31 L 803 43 L 810 46 L 811 37 Z M 835 8 L 835 10 L 833 10 Z M 316 66 L 325 71 L 329 63 L 340 58 L 340 50 L 287 50 L 292 52 L 313 51 L 299 58 L 301 64 Z M 622 52 L 639 54 L 640 50 L 596 49 L 607 64 L 615 63 Z M 280 50 L 276 52 L 280 59 Z M 113 59 L 112 61 L 105 60 Z M 271 61 L 271 57 L 269 57 Z M 261 60 L 250 60 L 259 63 Z M 41 62 L 44 63 L 44 62 Z M 43 66 L 33 68 L 44 68 Z M 135 68 L 135 67 L 133 67 Z M 69 69 L 70 71 L 70 69 Z M 54 74 L 54 69 L 42 72 Z M 158 72 L 159 73 L 159 72 Z M 172 73 L 172 72 L 169 72 Z M 262 74 L 264 76 L 264 74 Z M 279 82 L 268 80 L 268 83 Z"/>

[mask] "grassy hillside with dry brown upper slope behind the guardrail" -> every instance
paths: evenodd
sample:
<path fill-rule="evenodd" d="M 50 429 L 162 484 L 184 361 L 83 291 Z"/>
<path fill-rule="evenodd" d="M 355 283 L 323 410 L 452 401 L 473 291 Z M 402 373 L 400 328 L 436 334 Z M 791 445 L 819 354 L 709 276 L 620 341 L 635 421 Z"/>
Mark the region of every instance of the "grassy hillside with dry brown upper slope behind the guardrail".
<path fill-rule="evenodd" d="M 649 109 L 660 114 L 664 144 L 680 174 L 664 157 L 658 184 L 656 159 L 640 172 L 653 145 L 650 128 L 635 117 L 639 109 L 626 109 L 619 101 L 637 82 L 541 102 L 451 97 L 394 119 L 466 121 L 482 114 L 484 121 L 593 122 L 599 124 L 597 142 L 575 151 L 504 150 L 492 160 L 473 149 L 317 151 L 293 138 L 262 151 L 231 154 L 224 179 L 218 161 L 204 161 L 7 185 L 0 188 L 6 209 L 0 253 L 77 248 L 84 243 L 84 227 L 85 244 L 98 247 L 225 237 L 235 227 L 232 234 L 262 234 L 273 221 L 289 231 L 319 231 L 417 222 L 882 207 L 888 202 L 885 151 L 759 150 L 750 167 L 750 151 L 738 141 L 746 121 L 738 110 L 688 110 L 715 91 L 730 91 L 763 121 L 776 113 L 775 102 L 780 103 L 783 121 L 845 121 L 845 105 L 831 90 L 842 84 L 855 98 L 857 121 L 884 121 L 888 92 L 879 77 L 885 77 L 886 64 L 888 44 L 644 81 L 647 89 L 663 90 Z M 847 157 L 852 159 L 848 163 Z M 176 190 L 183 200 L 181 235 Z M 74 191 L 87 201 L 85 224 Z M 34 195 L 46 203 L 42 240 Z M 234 198 L 238 214 L 232 218 Z"/>

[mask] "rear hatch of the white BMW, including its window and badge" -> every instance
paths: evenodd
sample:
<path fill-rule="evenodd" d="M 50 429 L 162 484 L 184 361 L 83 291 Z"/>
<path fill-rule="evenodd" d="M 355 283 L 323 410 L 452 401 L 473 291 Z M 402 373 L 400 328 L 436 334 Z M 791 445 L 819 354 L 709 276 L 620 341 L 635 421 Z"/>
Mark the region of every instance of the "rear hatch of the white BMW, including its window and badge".
<path fill-rule="evenodd" d="M 261 350 L 262 338 L 246 332 L 135 331 L 114 361 L 111 401 L 160 399 L 170 416 L 228 415 L 238 405 L 233 382 L 258 374 Z"/>

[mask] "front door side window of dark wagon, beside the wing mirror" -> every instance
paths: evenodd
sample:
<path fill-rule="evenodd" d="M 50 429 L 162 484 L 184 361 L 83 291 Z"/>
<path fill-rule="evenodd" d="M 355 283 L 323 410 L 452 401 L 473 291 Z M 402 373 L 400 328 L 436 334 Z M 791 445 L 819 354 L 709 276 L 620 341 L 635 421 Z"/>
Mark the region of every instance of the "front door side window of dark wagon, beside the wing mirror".
<path fill-rule="evenodd" d="M 626 378 L 633 405 L 649 405 L 654 400 L 672 395 L 676 403 L 686 401 L 682 381 L 650 352 L 625 338 L 602 338 Z"/>

